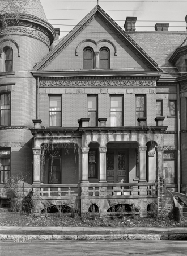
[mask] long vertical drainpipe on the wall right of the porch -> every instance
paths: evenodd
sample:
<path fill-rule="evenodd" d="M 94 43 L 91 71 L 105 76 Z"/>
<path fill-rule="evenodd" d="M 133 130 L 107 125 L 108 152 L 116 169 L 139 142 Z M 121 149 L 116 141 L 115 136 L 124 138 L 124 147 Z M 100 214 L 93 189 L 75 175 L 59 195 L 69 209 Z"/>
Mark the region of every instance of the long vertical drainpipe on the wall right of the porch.
<path fill-rule="evenodd" d="M 181 192 L 181 139 L 180 139 L 180 85 L 177 83 L 177 141 L 178 141 L 178 185 Z"/>

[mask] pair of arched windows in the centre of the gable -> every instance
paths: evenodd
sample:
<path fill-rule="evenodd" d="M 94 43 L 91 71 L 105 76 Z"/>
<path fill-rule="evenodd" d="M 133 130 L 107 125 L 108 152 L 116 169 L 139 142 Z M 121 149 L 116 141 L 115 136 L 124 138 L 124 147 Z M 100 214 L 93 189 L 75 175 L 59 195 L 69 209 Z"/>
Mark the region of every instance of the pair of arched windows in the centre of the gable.
<path fill-rule="evenodd" d="M 110 51 L 108 48 L 101 48 L 99 55 L 95 56 L 91 47 L 84 49 L 84 69 L 108 69 L 110 68 Z"/>

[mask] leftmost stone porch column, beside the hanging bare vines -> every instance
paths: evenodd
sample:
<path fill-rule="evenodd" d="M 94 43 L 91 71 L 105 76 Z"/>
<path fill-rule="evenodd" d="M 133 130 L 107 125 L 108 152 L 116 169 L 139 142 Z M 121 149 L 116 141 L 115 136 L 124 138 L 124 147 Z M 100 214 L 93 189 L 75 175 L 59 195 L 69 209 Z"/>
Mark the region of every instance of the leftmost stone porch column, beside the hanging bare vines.
<path fill-rule="evenodd" d="M 40 156 L 41 149 L 33 148 L 33 184 L 41 183 L 41 174 L 40 174 Z"/>

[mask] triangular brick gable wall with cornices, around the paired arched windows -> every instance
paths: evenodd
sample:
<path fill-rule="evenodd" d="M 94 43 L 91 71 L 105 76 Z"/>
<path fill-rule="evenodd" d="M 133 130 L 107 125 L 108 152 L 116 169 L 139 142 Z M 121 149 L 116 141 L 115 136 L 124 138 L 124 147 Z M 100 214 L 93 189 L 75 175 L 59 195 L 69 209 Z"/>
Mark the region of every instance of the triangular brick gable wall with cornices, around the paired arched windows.
<path fill-rule="evenodd" d="M 100 9 L 100 10 L 98 10 Z M 99 52 L 108 47 L 111 69 L 124 71 L 149 70 L 158 65 L 121 29 L 99 6 L 92 10 L 56 47 L 35 67 L 34 71 L 62 71 L 83 69 L 83 51 L 92 47 Z"/>

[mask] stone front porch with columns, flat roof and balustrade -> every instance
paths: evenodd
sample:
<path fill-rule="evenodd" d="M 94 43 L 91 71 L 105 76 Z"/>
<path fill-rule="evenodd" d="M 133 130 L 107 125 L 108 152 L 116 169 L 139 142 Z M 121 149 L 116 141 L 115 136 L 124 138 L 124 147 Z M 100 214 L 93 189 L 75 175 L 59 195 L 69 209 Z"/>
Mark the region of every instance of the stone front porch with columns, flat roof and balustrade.
<path fill-rule="evenodd" d="M 45 207 L 78 205 L 81 212 L 86 213 L 95 204 L 100 214 L 105 214 L 112 205 L 128 204 L 135 205 L 143 214 L 157 197 L 154 181 L 163 177 L 163 133 L 166 129 L 163 126 L 152 127 L 152 130 L 147 127 L 33 129 L 33 192 L 45 201 Z M 61 178 L 49 179 L 49 174 L 46 178 L 41 164 L 45 143 L 53 146 L 72 144 L 76 148 L 74 157 L 78 172 L 73 184 L 68 182 L 72 180 L 68 159 L 65 162 L 60 154 L 64 163 L 63 168 L 59 167 Z M 58 148 L 63 151 L 63 147 Z M 49 166 L 49 159 L 45 162 Z M 72 164 L 72 157 L 69 162 Z M 53 171 L 49 167 L 45 170 Z M 62 176 L 67 177 L 65 183 Z M 42 208 L 39 203 L 36 212 Z"/>

